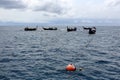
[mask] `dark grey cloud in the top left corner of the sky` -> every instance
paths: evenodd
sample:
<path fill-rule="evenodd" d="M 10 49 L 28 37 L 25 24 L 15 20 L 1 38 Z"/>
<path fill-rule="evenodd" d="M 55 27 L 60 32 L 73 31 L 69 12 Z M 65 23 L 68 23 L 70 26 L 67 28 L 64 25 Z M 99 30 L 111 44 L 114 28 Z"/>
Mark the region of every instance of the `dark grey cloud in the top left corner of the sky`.
<path fill-rule="evenodd" d="M 0 8 L 4 9 L 24 9 L 26 5 L 21 0 L 0 0 Z"/>

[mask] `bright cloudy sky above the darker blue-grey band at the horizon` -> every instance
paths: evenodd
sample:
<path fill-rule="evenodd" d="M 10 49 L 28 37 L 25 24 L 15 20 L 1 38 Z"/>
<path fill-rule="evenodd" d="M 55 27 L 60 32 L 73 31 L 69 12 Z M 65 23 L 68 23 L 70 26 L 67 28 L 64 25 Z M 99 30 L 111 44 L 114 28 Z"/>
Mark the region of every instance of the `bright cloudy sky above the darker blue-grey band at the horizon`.
<path fill-rule="evenodd" d="M 0 21 L 120 20 L 120 0 L 0 0 Z"/>

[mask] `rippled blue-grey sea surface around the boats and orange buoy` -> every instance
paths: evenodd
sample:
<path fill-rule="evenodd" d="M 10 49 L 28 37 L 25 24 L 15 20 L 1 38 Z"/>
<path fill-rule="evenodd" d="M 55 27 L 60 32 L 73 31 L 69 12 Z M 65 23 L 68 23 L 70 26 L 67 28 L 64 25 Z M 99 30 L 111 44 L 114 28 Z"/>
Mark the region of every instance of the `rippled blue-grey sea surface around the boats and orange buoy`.
<path fill-rule="evenodd" d="M 120 27 L 78 28 L 0 27 L 0 80 L 120 80 Z M 69 63 L 83 70 L 66 71 Z"/>

